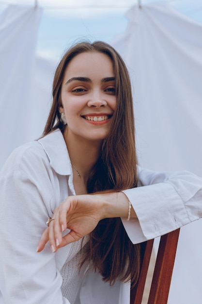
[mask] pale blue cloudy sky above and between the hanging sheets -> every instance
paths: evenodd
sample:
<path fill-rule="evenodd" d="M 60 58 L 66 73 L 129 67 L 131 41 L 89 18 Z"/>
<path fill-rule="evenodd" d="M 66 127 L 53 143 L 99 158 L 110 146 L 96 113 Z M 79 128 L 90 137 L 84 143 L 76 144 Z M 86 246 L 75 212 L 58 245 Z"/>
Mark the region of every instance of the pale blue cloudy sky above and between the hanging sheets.
<path fill-rule="evenodd" d="M 202 23 L 202 0 L 141 0 L 141 5 L 169 3 L 187 17 Z M 100 1 L 101 3 L 101 1 Z M 59 60 L 76 40 L 104 40 L 108 43 L 127 28 L 126 12 L 138 0 L 0 0 L 0 13 L 9 5 L 37 4 L 42 7 L 37 53 Z"/>

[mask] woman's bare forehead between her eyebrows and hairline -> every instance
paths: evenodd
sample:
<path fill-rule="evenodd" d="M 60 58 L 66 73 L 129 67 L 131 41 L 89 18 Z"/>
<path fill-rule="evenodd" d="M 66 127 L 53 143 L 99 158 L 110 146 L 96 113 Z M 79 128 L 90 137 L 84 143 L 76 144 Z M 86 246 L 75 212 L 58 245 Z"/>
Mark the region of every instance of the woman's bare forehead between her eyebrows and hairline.
<path fill-rule="evenodd" d="M 112 60 L 98 51 L 80 53 L 70 61 L 64 73 L 65 79 L 77 76 L 114 77 Z"/>

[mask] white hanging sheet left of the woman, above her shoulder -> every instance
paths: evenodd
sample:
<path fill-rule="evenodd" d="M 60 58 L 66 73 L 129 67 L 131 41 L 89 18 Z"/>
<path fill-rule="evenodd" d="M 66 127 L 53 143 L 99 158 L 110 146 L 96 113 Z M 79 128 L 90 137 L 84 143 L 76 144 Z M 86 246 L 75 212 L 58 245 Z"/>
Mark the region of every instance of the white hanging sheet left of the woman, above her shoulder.
<path fill-rule="evenodd" d="M 16 146 L 33 139 L 31 85 L 40 13 L 12 5 L 0 17 L 0 168 Z"/>

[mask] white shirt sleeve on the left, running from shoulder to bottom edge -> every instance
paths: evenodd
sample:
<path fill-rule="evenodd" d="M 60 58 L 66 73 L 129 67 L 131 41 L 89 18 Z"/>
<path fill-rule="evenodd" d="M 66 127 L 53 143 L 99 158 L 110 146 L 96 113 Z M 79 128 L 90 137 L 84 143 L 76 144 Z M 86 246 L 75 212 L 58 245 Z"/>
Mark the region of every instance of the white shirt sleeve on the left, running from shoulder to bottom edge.
<path fill-rule="evenodd" d="M 39 146 L 39 145 L 38 145 Z M 39 152 L 40 153 L 40 152 Z M 0 292 L 9 304 L 70 304 L 49 245 L 37 253 L 54 193 L 43 159 L 14 152 L 0 174 Z"/>

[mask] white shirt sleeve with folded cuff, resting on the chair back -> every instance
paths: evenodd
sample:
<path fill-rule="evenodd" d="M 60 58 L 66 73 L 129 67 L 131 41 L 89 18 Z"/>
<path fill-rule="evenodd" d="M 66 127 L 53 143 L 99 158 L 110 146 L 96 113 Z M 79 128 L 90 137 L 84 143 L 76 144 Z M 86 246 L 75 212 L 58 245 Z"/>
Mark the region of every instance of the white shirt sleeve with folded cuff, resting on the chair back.
<path fill-rule="evenodd" d="M 202 178 L 187 171 L 155 172 L 138 167 L 139 185 L 123 192 L 137 219 L 122 219 L 131 241 L 140 243 L 202 218 Z"/>

